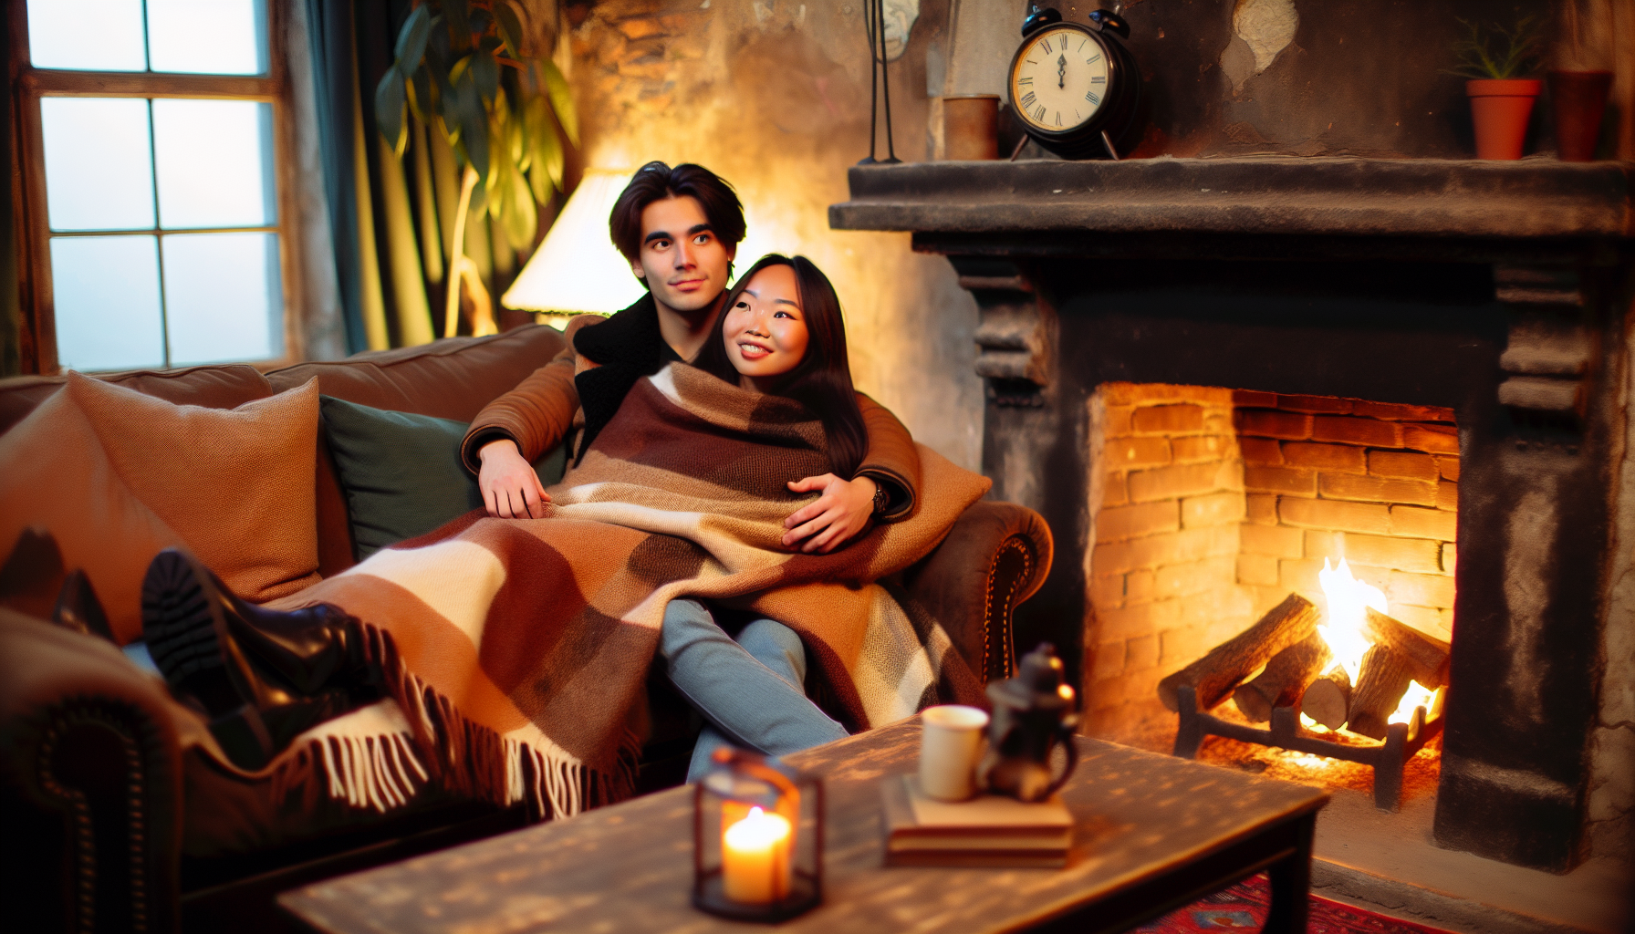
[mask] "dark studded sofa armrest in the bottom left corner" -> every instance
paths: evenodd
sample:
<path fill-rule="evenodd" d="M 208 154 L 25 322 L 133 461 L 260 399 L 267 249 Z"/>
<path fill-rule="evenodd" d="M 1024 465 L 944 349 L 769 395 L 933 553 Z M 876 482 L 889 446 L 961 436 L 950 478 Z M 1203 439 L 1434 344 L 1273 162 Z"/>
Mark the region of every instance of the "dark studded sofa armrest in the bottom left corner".
<path fill-rule="evenodd" d="M 0 610 L 0 905 L 20 931 L 175 931 L 180 752 L 164 687 Z"/>

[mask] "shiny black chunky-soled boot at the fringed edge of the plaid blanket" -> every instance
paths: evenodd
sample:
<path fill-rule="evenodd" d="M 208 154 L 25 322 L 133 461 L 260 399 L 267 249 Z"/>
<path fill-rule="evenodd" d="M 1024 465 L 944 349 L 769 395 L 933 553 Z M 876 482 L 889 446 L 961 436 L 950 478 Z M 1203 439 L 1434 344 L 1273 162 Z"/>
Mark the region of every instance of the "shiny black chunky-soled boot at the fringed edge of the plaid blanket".
<path fill-rule="evenodd" d="M 327 604 L 288 613 L 245 604 L 183 551 L 147 566 L 142 638 L 172 694 L 209 718 L 244 769 L 378 697 L 356 618 Z"/>

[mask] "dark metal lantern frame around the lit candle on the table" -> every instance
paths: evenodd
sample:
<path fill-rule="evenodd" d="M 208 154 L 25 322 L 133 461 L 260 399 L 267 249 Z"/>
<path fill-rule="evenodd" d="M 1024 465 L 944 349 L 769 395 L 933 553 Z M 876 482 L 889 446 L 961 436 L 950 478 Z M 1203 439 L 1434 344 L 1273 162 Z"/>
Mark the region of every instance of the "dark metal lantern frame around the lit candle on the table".
<path fill-rule="evenodd" d="M 693 906 L 734 921 L 778 923 L 822 901 L 824 790 L 816 775 L 793 772 L 764 756 L 723 748 L 714 767 L 693 785 Z M 746 788 L 760 792 L 746 793 Z M 732 811 L 762 808 L 790 821 L 788 891 L 749 903 L 726 895 L 723 836 Z"/>

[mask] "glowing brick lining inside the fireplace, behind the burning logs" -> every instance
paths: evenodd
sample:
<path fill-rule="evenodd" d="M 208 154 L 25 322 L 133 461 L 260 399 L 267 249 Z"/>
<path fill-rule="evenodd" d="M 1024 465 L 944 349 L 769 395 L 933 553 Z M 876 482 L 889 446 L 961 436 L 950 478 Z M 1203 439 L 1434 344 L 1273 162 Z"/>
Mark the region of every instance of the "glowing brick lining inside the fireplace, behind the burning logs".
<path fill-rule="evenodd" d="M 1158 680 L 1290 592 L 1321 607 L 1324 558 L 1346 558 L 1391 615 L 1452 641 L 1450 409 L 1105 383 L 1091 424 L 1092 734 L 1172 723 Z"/>

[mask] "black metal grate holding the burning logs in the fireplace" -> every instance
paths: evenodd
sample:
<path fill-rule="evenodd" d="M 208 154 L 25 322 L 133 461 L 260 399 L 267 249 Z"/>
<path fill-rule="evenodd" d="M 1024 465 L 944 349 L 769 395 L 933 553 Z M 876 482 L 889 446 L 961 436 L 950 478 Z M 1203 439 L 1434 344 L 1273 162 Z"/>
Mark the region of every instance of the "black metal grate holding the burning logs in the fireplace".
<path fill-rule="evenodd" d="M 1300 708 L 1274 707 L 1272 728 L 1257 730 L 1241 723 L 1228 723 L 1210 713 L 1198 710 L 1198 700 L 1192 687 L 1180 685 L 1177 707 L 1180 708 L 1180 728 L 1176 731 L 1176 756 L 1197 759 L 1198 746 L 1205 736 L 1225 736 L 1241 743 L 1261 746 L 1277 746 L 1295 752 L 1310 752 L 1329 759 L 1359 762 L 1373 769 L 1373 806 L 1382 811 L 1396 811 L 1403 803 L 1403 767 L 1414 757 L 1426 743 L 1442 734 L 1442 718 L 1426 723 L 1426 708 L 1416 707 L 1411 723 L 1391 723 L 1385 733 L 1385 743 L 1378 746 L 1346 746 L 1316 736 L 1300 734 Z"/>

